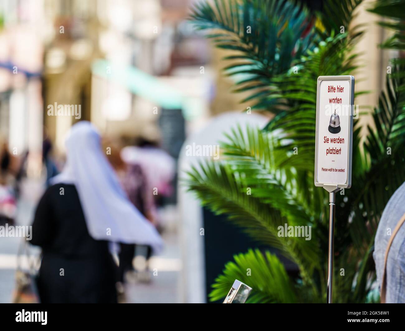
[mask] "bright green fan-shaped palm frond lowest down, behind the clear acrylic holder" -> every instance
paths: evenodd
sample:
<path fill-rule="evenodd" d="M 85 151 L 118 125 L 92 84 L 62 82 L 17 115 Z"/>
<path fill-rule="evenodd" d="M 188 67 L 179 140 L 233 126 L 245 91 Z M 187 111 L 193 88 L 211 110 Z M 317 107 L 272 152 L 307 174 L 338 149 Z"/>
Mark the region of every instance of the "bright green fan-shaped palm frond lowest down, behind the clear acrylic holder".
<path fill-rule="evenodd" d="M 247 303 L 296 302 L 294 287 L 280 260 L 258 249 L 234 255 L 234 262 L 225 265 L 224 273 L 215 279 L 209 294 L 211 301 L 224 299 L 235 279 L 252 287 Z"/>

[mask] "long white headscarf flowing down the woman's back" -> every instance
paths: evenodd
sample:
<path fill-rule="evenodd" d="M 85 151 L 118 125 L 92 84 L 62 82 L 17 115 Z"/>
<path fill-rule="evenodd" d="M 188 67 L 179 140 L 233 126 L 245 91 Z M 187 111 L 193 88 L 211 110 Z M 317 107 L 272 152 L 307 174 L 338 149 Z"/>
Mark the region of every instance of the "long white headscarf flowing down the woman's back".
<path fill-rule="evenodd" d="M 72 126 L 66 154 L 64 170 L 51 182 L 76 186 L 90 235 L 97 240 L 150 245 L 160 251 L 160 235 L 128 200 L 90 122 Z"/>

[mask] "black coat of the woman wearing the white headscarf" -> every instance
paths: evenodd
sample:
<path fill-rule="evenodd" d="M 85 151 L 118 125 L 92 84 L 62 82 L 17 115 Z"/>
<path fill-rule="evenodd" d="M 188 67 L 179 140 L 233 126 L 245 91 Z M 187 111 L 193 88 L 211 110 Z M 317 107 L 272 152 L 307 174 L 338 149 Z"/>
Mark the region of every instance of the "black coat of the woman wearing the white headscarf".
<path fill-rule="evenodd" d="M 36 209 L 31 244 L 43 250 L 38 278 L 41 302 L 117 301 L 117 270 L 108 242 L 93 239 L 87 231 L 74 185 L 47 189 Z"/>

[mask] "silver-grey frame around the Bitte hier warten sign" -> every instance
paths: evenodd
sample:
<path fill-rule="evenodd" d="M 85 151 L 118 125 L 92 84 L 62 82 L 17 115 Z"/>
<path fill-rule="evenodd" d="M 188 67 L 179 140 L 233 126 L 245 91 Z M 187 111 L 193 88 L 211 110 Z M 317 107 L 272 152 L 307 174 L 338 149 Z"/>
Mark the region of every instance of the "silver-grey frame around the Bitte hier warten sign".
<path fill-rule="evenodd" d="M 320 103 L 320 85 L 323 81 L 348 81 L 349 91 L 350 91 L 350 120 L 349 120 L 349 148 L 347 149 L 347 179 L 344 184 L 336 183 L 321 183 L 318 181 L 318 135 L 319 135 L 319 103 Z M 353 106 L 354 106 L 354 76 L 319 76 L 317 80 L 316 87 L 316 128 L 315 128 L 315 173 L 314 173 L 314 183 L 315 186 L 324 187 L 330 192 L 330 190 L 337 190 L 340 188 L 350 188 L 352 186 L 352 152 L 353 152 Z"/>

